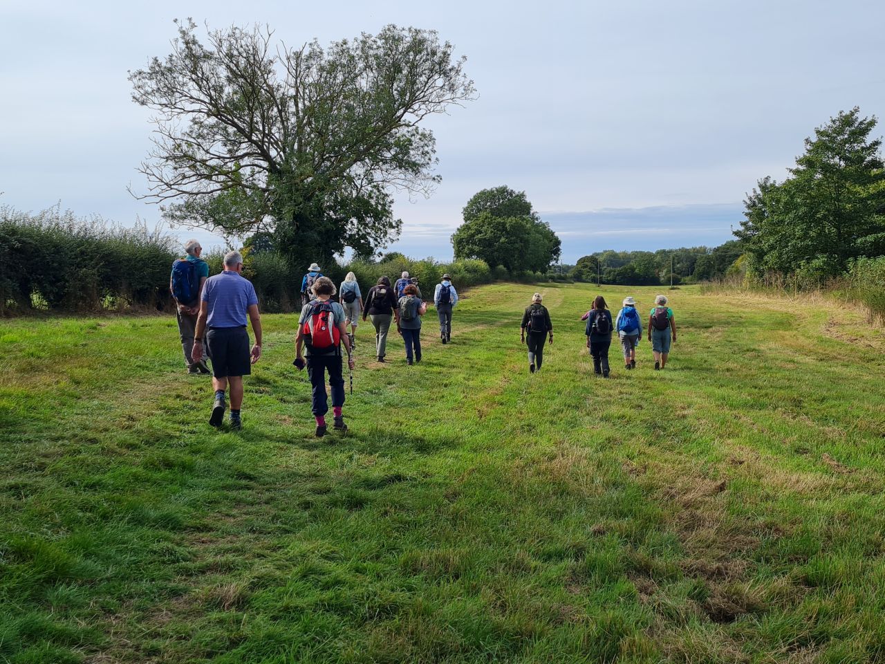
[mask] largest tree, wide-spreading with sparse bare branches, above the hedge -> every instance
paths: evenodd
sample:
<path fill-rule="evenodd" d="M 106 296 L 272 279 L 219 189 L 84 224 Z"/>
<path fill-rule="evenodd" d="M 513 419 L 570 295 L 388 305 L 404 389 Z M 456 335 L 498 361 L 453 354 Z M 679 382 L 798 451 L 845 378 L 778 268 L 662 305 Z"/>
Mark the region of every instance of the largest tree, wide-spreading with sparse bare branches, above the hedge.
<path fill-rule="evenodd" d="M 298 262 L 396 238 L 391 189 L 428 196 L 439 181 L 420 123 L 474 97 L 465 58 L 430 30 L 287 49 L 258 27 L 203 43 L 193 21 L 177 25 L 172 53 L 129 73 L 135 102 L 156 112 L 142 197 L 173 222 L 273 232 Z"/>

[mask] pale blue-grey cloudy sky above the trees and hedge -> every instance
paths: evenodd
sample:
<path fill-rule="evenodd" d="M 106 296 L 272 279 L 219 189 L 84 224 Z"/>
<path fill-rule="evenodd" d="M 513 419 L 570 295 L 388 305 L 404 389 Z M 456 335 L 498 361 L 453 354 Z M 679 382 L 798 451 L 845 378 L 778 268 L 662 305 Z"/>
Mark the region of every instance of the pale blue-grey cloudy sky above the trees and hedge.
<path fill-rule="evenodd" d="M 880 0 L 89 2 L 0 0 L 0 205 L 53 205 L 125 226 L 162 223 L 136 167 L 150 112 L 127 71 L 165 56 L 173 19 L 268 25 L 289 45 L 435 29 L 465 55 L 479 98 L 427 123 L 442 182 L 397 196 L 390 250 L 451 258 L 474 193 L 502 184 L 592 251 L 715 246 L 756 181 L 786 169 L 814 127 L 885 112 Z M 875 135 L 885 131 L 882 125 Z M 204 246 L 203 230 L 168 228 Z"/>

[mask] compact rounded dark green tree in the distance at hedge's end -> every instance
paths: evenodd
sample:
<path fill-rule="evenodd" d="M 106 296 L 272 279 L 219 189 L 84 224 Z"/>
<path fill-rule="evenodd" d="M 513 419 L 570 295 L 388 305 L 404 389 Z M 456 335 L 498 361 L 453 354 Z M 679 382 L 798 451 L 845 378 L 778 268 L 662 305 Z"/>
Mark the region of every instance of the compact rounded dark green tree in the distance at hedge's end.
<path fill-rule="evenodd" d="M 528 202 L 526 192 L 506 186 L 483 189 L 463 211 L 451 236 L 455 259 L 481 259 L 512 272 L 544 272 L 559 259 L 561 243 Z"/>

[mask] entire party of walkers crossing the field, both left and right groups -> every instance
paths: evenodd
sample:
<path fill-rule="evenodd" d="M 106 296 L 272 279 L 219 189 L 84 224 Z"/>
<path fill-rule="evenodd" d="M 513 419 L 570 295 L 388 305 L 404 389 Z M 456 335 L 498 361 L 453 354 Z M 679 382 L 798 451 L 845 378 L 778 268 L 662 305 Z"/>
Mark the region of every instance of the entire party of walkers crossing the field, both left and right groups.
<path fill-rule="evenodd" d="M 200 258 L 200 243 L 185 243 L 186 256 L 173 263 L 169 289 L 177 305 L 181 349 L 190 374 L 212 373 L 212 415 L 209 423 L 219 427 L 224 422 L 227 396 L 230 399 L 230 427 L 241 429 L 242 377 L 251 373 L 251 365 L 261 357 L 261 317 L 258 296 L 252 283 L 242 276 L 242 254 L 229 251 L 224 257 L 224 271 L 209 276 L 209 266 Z M 396 331 L 403 336 L 408 365 L 421 361 L 421 320 L 427 303 L 421 298 L 418 280 L 404 272 L 391 285 L 386 276 L 368 291 L 364 300 L 356 276 L 350 272 L 339 288 L 313 263 L 302 280 L 302 307 L 298 316 L 295 339 L 296 359 L 293 364 L 306 367 L 312 390 L 312 413 L 316 436 L 327 433 L 326 414 L 331 388 L 333 429 L 347 431 L 342 408 L 345 400 L 343 351 L 352 372 L 356 362 L 353 351 L 359 319 L 368 317 L 375 328 L 375 357 L 386 362 L 389 329 L 396 322 Z M 333 298 L 338 296 L 336 302 Z M 434 306 L 439 318 L 440 339 L 451 342 L 451 315 L 458 305 L 458 291 L 449 274 L 436 284 Z M 633 297 L 626 297 L 617 317 L 612 320 L 602 296 L 593 301 L 585 313 L 587 345 L 593 357 L 594 371 L 609 377 L 609 348 L 617 333 L 624 351 L 624 367 L 636 367 L 636 347 L 643 336 L 643 320 Z M 251 344 L 246 325 L 250 322 L 255 335 Z M 543 305 L 541 293 L 532 296 L 520 325 L 520 338 L 528 349 L 528 370 L 535 374 L 543 366 L 544 345 L 553 344 L 553 323 Z M 652 346 L 655 369 L 666 367 L 670 345 L 676 341 L 676 320 L 667 298 L 658 295 L 648 317 L 648 340 Z M 212 359 L 212 371 L 206 365 Z M 352 390 L 352 374 L 351 374 Z"/>

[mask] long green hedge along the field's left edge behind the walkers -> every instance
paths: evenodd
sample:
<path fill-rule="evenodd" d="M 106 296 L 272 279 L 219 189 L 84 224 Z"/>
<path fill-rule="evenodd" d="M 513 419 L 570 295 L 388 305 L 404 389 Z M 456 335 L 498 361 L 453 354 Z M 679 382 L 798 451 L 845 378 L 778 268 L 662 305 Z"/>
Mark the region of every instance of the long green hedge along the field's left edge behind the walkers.
<path fill-rule="evenodd" d="M 241 251 L 243 274 L 255 285 L 262 311 L 298 309 L 303 272 L 279 254 Z M 108 226 L 100 218 L 78 219 L 58 207 L 39 214 L 0 207 L 0 315 L 40 309 L 85 313 L 152 307 L 171 311 L 169 271 L 181 255 L 176 238 L 151 232 L 143 225 Z M 206 253 L 203 258 L 209 263 L 210 274 L 221 271 L 223 251 Z M 323 274 L 335 285 L 352 271 L 364 292 L 382 275 L 395 282 L 408 271 L 418 277 L 425 297 L 445 273 L 451 274 L 459 290 L 504 280 L 540 282 L 548 277 L 508 274 L 503 267 L 489 268 L 481 260 L 439 263 L 398 253 L 381 263 L 351 261 L 323 267 Z"/>

